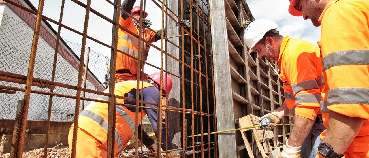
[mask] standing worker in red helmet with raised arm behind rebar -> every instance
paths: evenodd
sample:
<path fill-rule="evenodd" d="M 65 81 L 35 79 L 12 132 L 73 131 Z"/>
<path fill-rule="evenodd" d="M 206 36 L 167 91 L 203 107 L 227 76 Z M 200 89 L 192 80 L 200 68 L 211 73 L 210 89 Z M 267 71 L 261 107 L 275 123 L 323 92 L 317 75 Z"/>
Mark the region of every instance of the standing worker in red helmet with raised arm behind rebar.
<path fill-rule="evenodd" d="M 140 10 L 141 8 L 139 6 L 134 6 L 134 3 L 136 0 L 124 0 L 121 9 L 130 13 L 133 17 L 135 17 L 137 20 L 139 20 L 140 17 Z M 146 18 L 148 14 L 142 10 L 142 19 Z M 151 23 L 151 22 L 150 22 Z M 145 21 L 142 23 L 145 24 Z M 139 21 L 136 21 L 132 19 L 130 16 L 126 15 L 121 11 L 120 14 L 120 25 L 124 28 L 127 28 L 134 34 L 139 34 Z M 146 23 L 147 26 L 150 26 L 149 23 Z M 144 28 L 142 26 L 142 39 L 145 39 L 149 42 L 155 42 L 161 39 L 161 30 L 158 30 L 158 34 L 156 32 L 153 32 L 147 28 Z M 165 31 L 164 31 L 165 32 Z M 119 28 L 118 31 L 118 49 L 122 52 L 128 53 L 132 56 L 135 56 L 138 58 L 138 54 L 141 54 L 142 61 L 146 61 L 148 52 L 150 49 L 150 45 L 145 43 L 144 41 L 141 41 L 141 49 L 138 48 L 139 46 L 139 40 L 134 35 L 130 34 L 127 31 L 124 31 L 123 29 Z M 144 67 L 144 62 L 141 61 L 140 68 L 142 69 Z M 121 82 L 124 80 L 137 80 L 137 59 L 134 59 L 128 55 L 122 54 L 120 52 L 117 52 L 117 66 L 116 66 L 116 82 Z M 109 68 L 110 69 L 110 66 Z M 140 76 L 141 80 L 145 80 L 147 78 L 147 74 L 144 73 Z"/>

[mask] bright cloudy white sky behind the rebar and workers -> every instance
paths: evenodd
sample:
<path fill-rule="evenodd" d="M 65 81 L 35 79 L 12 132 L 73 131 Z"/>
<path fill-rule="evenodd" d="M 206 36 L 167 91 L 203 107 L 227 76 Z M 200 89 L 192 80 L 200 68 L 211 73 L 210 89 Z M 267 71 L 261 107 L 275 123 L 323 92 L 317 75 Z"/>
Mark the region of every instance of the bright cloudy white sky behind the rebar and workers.
<path fill-rule="evenodd" d="M 30 0 L 31 3 L 37 8 L 39 0 Z M 87 3 L 87 0 L 79 0 L 82 3 Z M 110 0 L 113 1 L 113 0 Z M 123 1 L 123 0 L 122 0 Z M 162 11 L 157 7 L 152 0 L 146 1 L 146 12 L 148 13 L 148 19 L 152 22 L 151 28 L 154 30 L 161 29 L 161 14 Z M 135 6 L 139 5 L 139 0 L 136 1 Z M 159 1 L 157 1 L 160 3 Z M 310 20 L 303 20 L 302 17 L 294 17 L 288 13 L 288 0 L 246 0 L 252 15 L 255 19 L 269 19 L 279 25 L 278 29 L 280 34 L 285 36 L 289 35 L 294 38 L 301 38 L 312 42 L 317 45 L 317 41 L 320 39 L 320 27 L 314 27 Z M 59 14 L 61 8 L 61 0 L 46 0 L 44 4 L 43 15 L 59 21 Z M 113 19 L 113 6 L 104 0 L 91 0 L 91 8 L 99 11 L 104 16 Z M 85 21 L 85 8 L 80 7 L 76 3 L 66 0 L 63 13 L 62 24 L 65 24 L 77 31 L 83 32 L 83 25 Z M 58 26 L 50 23 L 55 30 L 58 30 Z M 102 18 L 90 13 L 89 23 L 87 28 L 87 35 L 96 38 L 105 44 L 111 45 L 111 30 L 112 25 Z M 82 43 L 82 36 L 62 28 L 61 37 L 78 44 Z M 154 45 L 161 47 L 161 41 L 154 42 Z M 110 56 L 110 49 L 98 44 L 90 39 L 86 41 L 86 47 L 91 47 L 94 52 L 99 52 L 106 56 Z M 147 62 L 160 67 L 160 51 L 151 47 Z M 164 64 L 165 66 L 165 64 Z M 144 72 L 151 74 L 159 71 L 149 65 L 145 65 Z"/>

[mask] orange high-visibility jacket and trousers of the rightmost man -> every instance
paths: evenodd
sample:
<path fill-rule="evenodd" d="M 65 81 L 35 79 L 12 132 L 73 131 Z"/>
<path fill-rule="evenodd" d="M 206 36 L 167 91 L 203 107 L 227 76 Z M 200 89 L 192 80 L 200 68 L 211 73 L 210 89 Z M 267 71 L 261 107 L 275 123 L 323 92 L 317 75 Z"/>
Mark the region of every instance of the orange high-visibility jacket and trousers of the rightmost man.
<path fill-rule="evenodd" d="M 324 125 L 330 110 L 364 123 L 346 152 L 369 151 L 369 1 L 331 0 L 321 22 Z M 321 138 L 325 135 L 322 133 Z"/>

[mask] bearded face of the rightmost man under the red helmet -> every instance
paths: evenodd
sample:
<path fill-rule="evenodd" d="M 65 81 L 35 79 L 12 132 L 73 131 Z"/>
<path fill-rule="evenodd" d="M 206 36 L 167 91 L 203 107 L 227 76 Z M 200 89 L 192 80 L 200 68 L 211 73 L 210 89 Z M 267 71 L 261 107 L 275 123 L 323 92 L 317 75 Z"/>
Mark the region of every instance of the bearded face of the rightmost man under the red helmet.
<path fill-rule="evenodd" d="M 296 8 L 303 12 L 304 20 L 310 19 L 313 25 L 318 27 L 320 26 L 318 19 L 326 5 L 324 0 L 300 0 L 296 4 Z"/>

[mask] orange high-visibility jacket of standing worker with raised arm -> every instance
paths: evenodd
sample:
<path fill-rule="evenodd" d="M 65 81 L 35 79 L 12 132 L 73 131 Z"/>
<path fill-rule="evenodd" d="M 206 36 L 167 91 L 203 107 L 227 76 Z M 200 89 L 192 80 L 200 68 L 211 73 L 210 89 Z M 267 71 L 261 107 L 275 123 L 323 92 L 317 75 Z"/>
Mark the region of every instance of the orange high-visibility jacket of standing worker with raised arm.
<path fill-rule="evenodd" d="M 123 19 L 120 16 L 120 25 L 127 28 L 128 30 L 134 32 L 135 34 L 139 34 L 139 30 L 134 24 L 131 17 L 128 17 L 127 19 Z M 134 37 L 133 35 L 129 34 L 128 32 L 122 30 L 119 28 L 118 31 L 119 40 L 118 40 L 118 49 L 127 52 L 128 54 L 138 57 L 138 38 Z M 142 39 L 146 39 L 149 42 L 155 42 L 155 32 L 144 29 L 142 31 Z M 150 45 L 144 43 L 142 41 L 142 54 L 141 59 L 143 61 L 146 61 L 147 55 L 150 49 Z M 141 69 L 143 68 L 144 63 L 141 62 Z M 120 52 L 117 52 L 117 67 L 116 70 L 129 70 L 132 74 L 137 74 L 137 59 L 131 58 L 130 56 L 124 55 Z"/>

